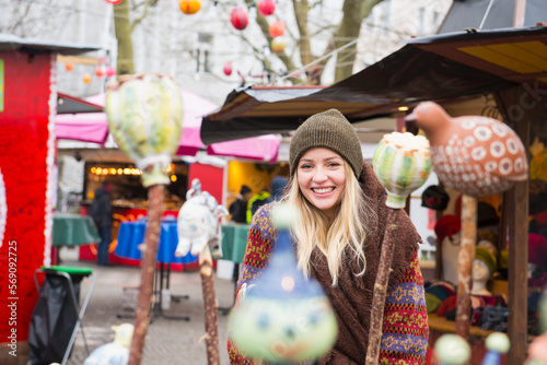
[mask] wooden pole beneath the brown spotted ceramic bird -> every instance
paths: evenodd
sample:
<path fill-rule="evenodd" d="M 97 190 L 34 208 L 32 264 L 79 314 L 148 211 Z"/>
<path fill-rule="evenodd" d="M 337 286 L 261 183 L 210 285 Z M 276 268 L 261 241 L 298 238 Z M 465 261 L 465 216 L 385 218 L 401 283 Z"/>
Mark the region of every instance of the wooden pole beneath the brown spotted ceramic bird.
<path fill-rule="evenodd" d="M 467 340 L 472 311 L 470 284 L 477 239 L 477 198 L 462 196 L 462 243 L 457 259 L 456 334 Z"/>

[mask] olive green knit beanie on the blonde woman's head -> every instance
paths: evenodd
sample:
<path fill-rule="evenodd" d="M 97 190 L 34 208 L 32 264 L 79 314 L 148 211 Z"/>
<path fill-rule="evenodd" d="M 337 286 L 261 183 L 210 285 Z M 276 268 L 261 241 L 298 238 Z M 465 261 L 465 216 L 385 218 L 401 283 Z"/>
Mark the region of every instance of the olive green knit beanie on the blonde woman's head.
<path fill-rule="evenodd" d="M 315 114 L 296 129 L 289 152 L 291 177 L 296 170 L 300 157 L 313 148 L 335 151 L 350 164 L 357 178 L 361 176 L 363 154 L 359 137 L 348 119 L 337 109 Z"/>

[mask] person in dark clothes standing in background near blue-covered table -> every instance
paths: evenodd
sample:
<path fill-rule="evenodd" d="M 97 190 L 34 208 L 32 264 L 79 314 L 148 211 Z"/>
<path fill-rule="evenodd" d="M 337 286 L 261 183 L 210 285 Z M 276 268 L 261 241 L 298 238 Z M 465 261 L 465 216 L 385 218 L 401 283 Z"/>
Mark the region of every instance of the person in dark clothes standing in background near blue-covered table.
<path fill-rule="evenodd" d="M 95 190 L 95 197 L 91 203 L 88 215 L 93 219 L 98 231 L 101 242 L 97 247 L 97 264 L 108 266 L 108 247 L 112 242 L 112 225 L 114 216 L 112 211 L 112 185 L 103 181 L 101 188 Z"/>

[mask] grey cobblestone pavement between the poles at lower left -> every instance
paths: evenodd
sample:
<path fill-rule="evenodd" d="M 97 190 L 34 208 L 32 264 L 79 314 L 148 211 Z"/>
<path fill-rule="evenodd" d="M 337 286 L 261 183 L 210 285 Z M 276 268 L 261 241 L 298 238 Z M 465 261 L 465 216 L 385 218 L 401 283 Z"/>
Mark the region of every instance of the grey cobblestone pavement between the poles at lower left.
<path fill-rule="evenodd" d="M 88 309 L 83 317 L 85 339 L 90 351 L 102 344 L 112 342 L 114 331 L 110 326 L 130 322 L 132 318 L 118 318 L 127 314 L 127 291 L 124 287 L 136 287 L 140 283 L 140 268 L 113 266 L 98 267 L 89 261 L 63 261 L 65 266 L 84 266 L 93 268 L 96 283 Z M 234 284 L 230 280 L 216 278 L 216 293 L 220 307 L 233 303 Z M 90 280 L 82 282 L 80 298 L 83 301 Z M 165 315 L 189 316 L 190 320 L 167 319 L 162 316 L 153 318 L 149 326 L 144 343 L 142 365 L 207 364 L 205 341 L 199 339 L 205 333 L 201 279 L 199 272 L 171 273 L 171 294 L 189 295 L 187 299 L 171 303 Z M 126 293 L 126 294 L 125 294 Z M 127 305 L 126 305 L 127 306 Z M 229 316 L 218 314 L 220 364 L 228 365 L 226 339 Z M 78 332 L 72 355 L 68 365 L 81 365 L 86 357 L 82 332 Z"/>

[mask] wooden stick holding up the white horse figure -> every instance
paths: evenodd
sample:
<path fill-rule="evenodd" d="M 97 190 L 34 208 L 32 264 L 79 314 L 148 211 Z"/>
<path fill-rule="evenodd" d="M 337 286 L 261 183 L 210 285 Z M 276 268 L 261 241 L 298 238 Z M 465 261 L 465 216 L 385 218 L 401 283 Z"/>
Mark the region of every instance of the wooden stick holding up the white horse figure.
<path fill-rule="evenodd" d="M 219 365 L 218 304 L 214 294 L 212 257 L 209 245 L 199 254 L 199 273 L 203 293 L 207 363 Z"/>

